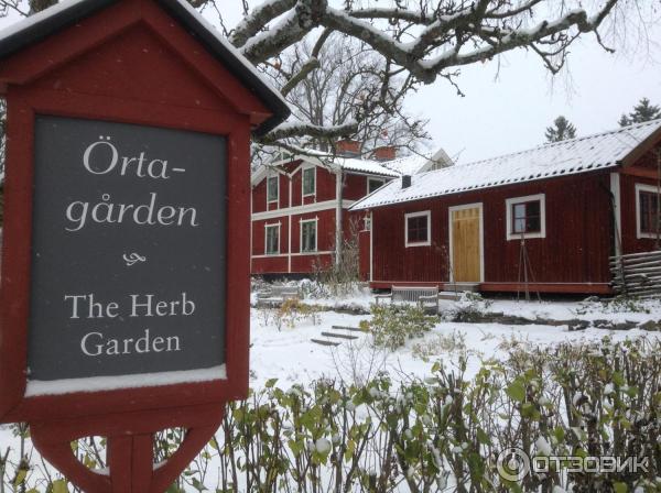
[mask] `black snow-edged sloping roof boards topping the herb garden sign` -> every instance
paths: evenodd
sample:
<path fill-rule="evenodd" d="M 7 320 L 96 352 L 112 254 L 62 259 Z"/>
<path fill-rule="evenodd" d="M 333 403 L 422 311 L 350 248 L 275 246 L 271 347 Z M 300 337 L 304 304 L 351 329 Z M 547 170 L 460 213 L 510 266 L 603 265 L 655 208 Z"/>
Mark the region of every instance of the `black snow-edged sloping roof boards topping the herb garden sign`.
<path fill-rule="evenodd" d="M 10 25 L 0 31 L 0 61 L 118 1 L 120 0 L 64 0 Z M 174 17 L 273 112 L 271 118 L 254 130 L 256 134 L 262 135 L 289 118 L 291 109 L 280 91 L 274 89 L 262 74 L 221 37 L 193 7 L 185 0 L 155 0 L 155 2 Z"/>

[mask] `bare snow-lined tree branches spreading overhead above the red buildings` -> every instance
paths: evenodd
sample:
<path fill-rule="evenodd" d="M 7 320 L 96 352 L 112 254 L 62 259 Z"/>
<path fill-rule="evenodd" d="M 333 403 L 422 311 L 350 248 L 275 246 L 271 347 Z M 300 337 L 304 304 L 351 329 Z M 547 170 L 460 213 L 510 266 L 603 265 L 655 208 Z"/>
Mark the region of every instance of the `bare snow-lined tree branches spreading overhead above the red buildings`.
<path fill-rule="evenodd" d="M 32 13 L 55 1 L 0 0 L 0 17 L 9 10 Z M 403 101 L 420 84 L 442 78 L 462 95 L 460 67 L 514 50 L 532 51 L 555 74 L 585 33 L 613 51 L 599 28 L 606 19 L 627 21 L 618 14 L 628 6 L 639 10 L 640 22 L 651 19 L 632 0 L 602 0 L 590 13 L 583 0 L 381 0 L 379 7 L 355 0 L 333 7 L 329 0 L 253 0 L 256 6 L 241 0 L 243 19 L 228 29 L 218 0 L 188 1 L 199 9 L 213 4 L 229 41 L 294 107 L 294 123 L 264 142 L 322 147 L 349 128 L 375 145 L 416 142 L 424 128 L 405 113 Z M 329 44 L 348 48 L 334 53 L 326 50 Z"/>

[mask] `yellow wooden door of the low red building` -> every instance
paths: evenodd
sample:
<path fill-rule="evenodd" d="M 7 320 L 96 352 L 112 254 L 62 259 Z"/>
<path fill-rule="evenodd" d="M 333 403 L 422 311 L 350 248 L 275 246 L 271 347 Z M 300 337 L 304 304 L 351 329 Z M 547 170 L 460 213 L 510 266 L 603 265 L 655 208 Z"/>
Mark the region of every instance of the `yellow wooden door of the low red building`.
<path fill-rule="evenodd" d="M 481 252 L 479 241 L 480 208 L 458 209 L 452 218 L 452 263 L 457 283 L 481 281 Z"/>

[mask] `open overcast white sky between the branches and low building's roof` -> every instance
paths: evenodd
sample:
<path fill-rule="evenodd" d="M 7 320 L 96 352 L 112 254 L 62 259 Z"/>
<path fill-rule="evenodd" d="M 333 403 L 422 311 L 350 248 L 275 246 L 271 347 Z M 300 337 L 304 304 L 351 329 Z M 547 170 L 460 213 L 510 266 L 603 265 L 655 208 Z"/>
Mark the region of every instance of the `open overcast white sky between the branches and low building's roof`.
<path fill-rule="evenodd" d="M 240 0 L 218 6 L 228 25 L 239 21 Z M 215 14 L 207 17 L 213 20 Z M 0 28 L 8 23 L 0 20 Z M 615 55 L 598 46 L 594 36 L 585 36 L 572 47 L 568 72 L 554 78 L 525 52 L 464 67 L 457 78 L 464 98 L 438 80 L 412 95 L 409 110 L 430 120 L 433 147 L 444 147 L 460 162 L 540 144 L 559 114 L 576 125 L 578 135 L 615 129 L 620 114 L 640 98 L 661 105 L 659 24 L 649 31 L 649 46 L 629 36 L 629 46 Z"/>

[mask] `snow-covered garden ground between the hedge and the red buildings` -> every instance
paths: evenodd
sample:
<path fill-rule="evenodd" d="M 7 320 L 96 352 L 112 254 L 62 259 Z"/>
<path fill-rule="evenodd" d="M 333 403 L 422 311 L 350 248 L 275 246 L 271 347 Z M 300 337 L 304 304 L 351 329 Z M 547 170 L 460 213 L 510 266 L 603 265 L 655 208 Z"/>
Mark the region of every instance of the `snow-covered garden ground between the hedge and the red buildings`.
<path fill-rule="evenodd" d="M 442 302 L 445 317 L 424 337 L 409 340 L 393 352 L 373 349 L 370 336 L 366 332 L 339 330 L 340 333 L 357 336 L 355 340 L 335 339 L 337 347 L 319 346 L 311 339 L 333 340 L 322 335 L 333 331 L 333 326 L 359 327 L 369 315 L 338 313 L 332 307 L 355 307 L 368 310 L 373 296 L 367 291 L 340 298 L 306 298 L 306 303 L 324 307 L 316 319 L 299 320 L 294 327 L 282 325 L 277 328 L 273 310 L 251 308 L 250 385 L 259 390 L 266 382 L 278 379 L 278 386 L 288 388 L 293 384 L 306 385 L 313 380 L 325 377 L 345 382 L 361 382 L 387 371 L 393 380 L 410 376 L 425 377 L 431 374 L 432 364 L 442 361 L 446 365 L 456 364 L 460 354 L 468 358 L 467 373 L 474 374 L 485 359 L 505 357 L 512 344 L 544 347 L 562 341 L 597 341 L 609 336 L 613 340 L 661 337 L 661 332 L 640 329 L 608 330 L 588 327 L 571 331 L 566 325 L 543 324 L 509 326 L 502 324 L 465 324 L 447 321 L 457 308 L 469 307 L 485 313 L 525 317 L 529 319 L 553 320 L 609 320 L 613 322 L 661 319 L 661 302 L 636 304 L 603 304 L 600 302 L 516 302 L 463 299 Z M 337 332 L 337 330 L 335 330 Z M 0 427 L 0 453 L 8 447 L 14 450 L 18 439 L 8 427 Z M 15 452 L 14 452 L 15 456 Z M 15 459 L 15 457 L 14 457 Z M 33 462 L 35 457 L 33 457 Z M 193 491 L 193 490 L 192 490 Z"/>

